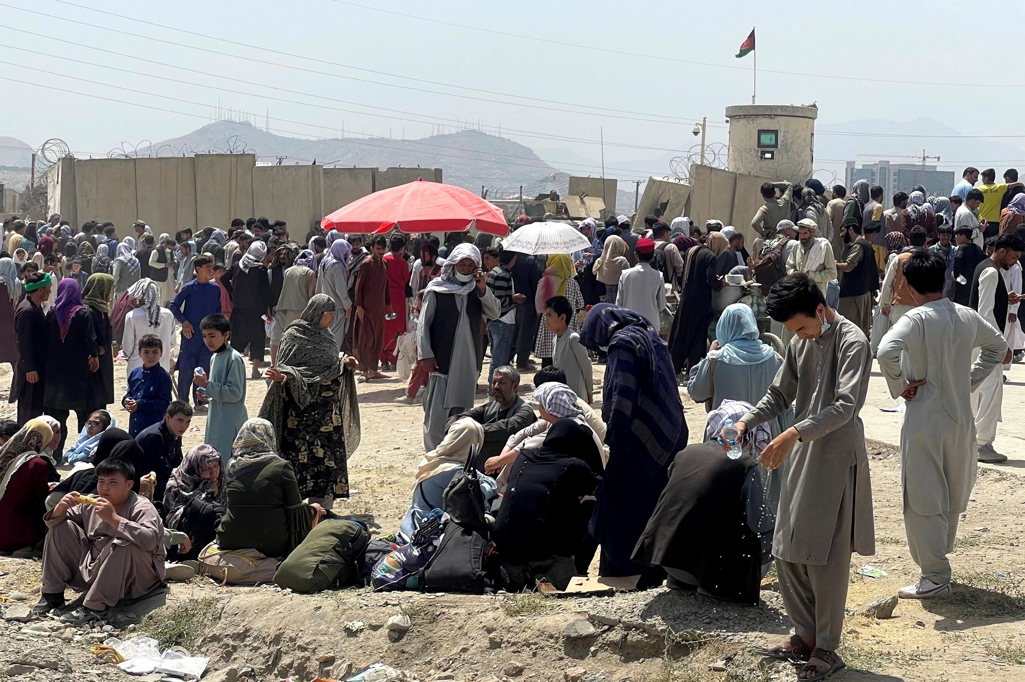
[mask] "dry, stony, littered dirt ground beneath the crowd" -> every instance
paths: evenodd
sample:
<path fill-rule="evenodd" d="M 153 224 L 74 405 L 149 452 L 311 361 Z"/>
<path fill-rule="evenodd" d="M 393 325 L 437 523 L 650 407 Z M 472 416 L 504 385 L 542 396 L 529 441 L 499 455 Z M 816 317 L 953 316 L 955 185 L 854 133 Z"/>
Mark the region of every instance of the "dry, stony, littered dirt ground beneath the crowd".
<path fill-rule="evenodd" d="M 118 396 L 123 394 L 123 364 L 116 365 Z M 596 376 L 601 376 L 597 368 Z M 852 557 L 842 655 L 848 670 L 838 680 L 954 682 L 1025 680 L 1025 557 L 1021 550 L 1025 518 L 1025 440 L 1014 433 L 1021 423 L 1025 367 L 1015 366 L 1006 384 L 1004 419 L 997 450 L 1007 465 L 979 470 L 972 502 L 957 534 L 955 593 L 945 601 L 902 600 L 894 617 L 876 621 L 854 615 L 869 602 L 896 594 L 917 579 L 901 518 L 900 454 L 887 442 L 899 439 L 901 415 L 881 412 L 893 400 L 877 371 L 862 411 L 871 457 L 877 549 L 871 557 Z M 521 393 L 529 392 L 530 376 Z M 9 369 L 0 368 L 0 396 L 6 397 Z M 261 381 L 249 381 L 247 406 L 255 415 L 263 395 Z M 411 493 L 412 475 L 422 456 L 420 406 L 393 401 L 404 384 L 396 378 L 359 387 L 363 441 L 350 459 L 352 498 L 335 512 L 367 522 L 374 532 L 398 528 Z M 704 410 L 683 391 L 691 440 L 701 437 Z M 478 397 L 483 400 L 484 395 Z M 13 406 L 0 403 L 0 416 Z M 117 408 L 118 406 L 114 406 Z M 127 414 L 115 410 L 127 424 Z M 205 416 L 198 416 L 184 437 L 187 447 L 202 441 Z M 74 421 L 74 418 L 73 418 Z M 928 425 L 925 425 L 928 428 Z M 862 564 L 888 576 L 854 572 Z M 208 677 L 251 680 L 287 677 L 312 680 L 323 673 L 340 676 L 374 662 L 407 671 L 419 680 L 793 680 L 785 664 L 766 665 L 750 649 L 775 641 L 789 624 L 774 573 L 763 585 L 756 607 L 724 603 L 664 588 L 615 596 L 556 598 L 526 595 L 374 594 L 346 589 L 300 596 L 275 587 L 219 587 L 209 579 L 173 584 L 167 607 L 155 611 L 139 632 L 211 656 Z M 28 603 L 39 594 L 39 562 L 0 558 L 0 595 L 24 592 Z M 17 596 L 17 595 L 15 595 Z M 2 601 L 2 599 L 0 599 Z M 405 612 L 412 629 L 404 638 L 381 627 Z M 586 623 L 579 623 L 586 620 Z M 569 631 L 579 636 L 569 636 Z M 32 624 L 29 624 L 32 625 Z M 19 623 L 0 622 L 0 673 L 31 647 L 57 646 L 72 673 L 36 669 L 24 679 L 108 679 L 123 674 L 88 653 L 86 630 L 52 634 L 22 632 Z M 346 627 L 348 629 L 346 629 Z M 582 634 L 581 634 L 582 633 Z M 85 637 L 83 637 L 85 636 Z M 77 639 L 76 639 L 77 638 Z M 65 641 L 68 640 L 68 641 Z M 334 663 L 318 663 L 317 658 Z M 234 667 L 237 670 L 224 670 Z M 714 668 L 714 670 L 712 670 Z M 156 680 L 157 678 L 153 678 Z"/>

